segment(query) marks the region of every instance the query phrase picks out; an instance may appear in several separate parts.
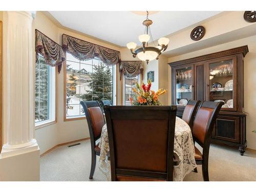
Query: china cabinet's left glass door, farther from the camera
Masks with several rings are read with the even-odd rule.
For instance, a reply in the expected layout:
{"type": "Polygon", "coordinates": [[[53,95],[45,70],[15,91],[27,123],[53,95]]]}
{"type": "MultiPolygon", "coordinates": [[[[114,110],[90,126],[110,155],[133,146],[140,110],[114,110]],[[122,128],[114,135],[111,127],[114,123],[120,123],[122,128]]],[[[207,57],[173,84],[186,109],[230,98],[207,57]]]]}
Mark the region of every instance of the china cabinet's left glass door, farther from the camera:
{"type": "Polygon", "coordinates": [[[193,70],[192,67],[176,69],[176,104],[186,105],[193,99],[193,70]]]}

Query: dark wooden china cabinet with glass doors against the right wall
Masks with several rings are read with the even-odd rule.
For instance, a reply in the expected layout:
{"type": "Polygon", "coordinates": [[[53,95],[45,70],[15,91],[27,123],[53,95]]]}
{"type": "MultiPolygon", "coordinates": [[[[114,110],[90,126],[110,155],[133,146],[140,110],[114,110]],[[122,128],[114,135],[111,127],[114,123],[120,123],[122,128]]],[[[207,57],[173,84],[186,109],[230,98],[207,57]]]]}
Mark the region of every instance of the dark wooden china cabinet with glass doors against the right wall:
{"type": "Polygon", "coordinates": [[[172,104],[182,116],[189,99],[221,101],[212,142],[246,148],[243,58],[247,46],[168,63],[172,68],[172,104]]]}

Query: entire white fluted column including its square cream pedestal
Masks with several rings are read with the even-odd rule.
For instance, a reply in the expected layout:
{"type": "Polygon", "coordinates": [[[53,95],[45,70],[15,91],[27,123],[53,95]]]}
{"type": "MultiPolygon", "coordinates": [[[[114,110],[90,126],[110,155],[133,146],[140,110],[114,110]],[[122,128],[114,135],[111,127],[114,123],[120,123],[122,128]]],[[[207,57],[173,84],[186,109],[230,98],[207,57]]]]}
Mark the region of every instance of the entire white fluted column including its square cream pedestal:
{"type": "Polygon", "coordinates": [[[4,131],[0,181],[39,181],[40,149],[33,119],[31,12],[4,12],[4,131]],[[7,36],[7,37],[6,37],[7,36]]]}

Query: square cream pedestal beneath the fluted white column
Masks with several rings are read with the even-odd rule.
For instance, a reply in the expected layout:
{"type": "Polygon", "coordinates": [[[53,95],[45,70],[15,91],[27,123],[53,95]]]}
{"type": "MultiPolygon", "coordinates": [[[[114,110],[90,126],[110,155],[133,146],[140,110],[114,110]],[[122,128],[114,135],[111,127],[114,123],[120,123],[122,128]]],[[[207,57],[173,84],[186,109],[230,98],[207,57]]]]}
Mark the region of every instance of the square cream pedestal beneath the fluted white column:
{"type": "Polygon", "coordinates": [[[39,181],[40,149],[37,143],[14,151],[3,149],[0,170],[0,181],[39,181]]]}

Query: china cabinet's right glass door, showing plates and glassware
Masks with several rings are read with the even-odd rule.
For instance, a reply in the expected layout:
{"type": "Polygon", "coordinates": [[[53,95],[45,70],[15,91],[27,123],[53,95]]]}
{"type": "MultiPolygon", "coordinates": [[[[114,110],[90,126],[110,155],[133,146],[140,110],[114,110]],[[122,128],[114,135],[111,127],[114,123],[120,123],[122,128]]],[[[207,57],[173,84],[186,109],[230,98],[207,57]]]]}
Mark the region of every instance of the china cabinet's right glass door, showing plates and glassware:
{"type": "Polygon", "coordinates": [[[227,59],[209,63],[209,100],[222,101],[222,108],[233,110],[236,108],[234,93],[236,91],[236,68],[234,59],[227,59]]]}

